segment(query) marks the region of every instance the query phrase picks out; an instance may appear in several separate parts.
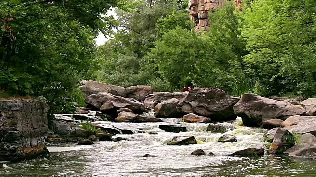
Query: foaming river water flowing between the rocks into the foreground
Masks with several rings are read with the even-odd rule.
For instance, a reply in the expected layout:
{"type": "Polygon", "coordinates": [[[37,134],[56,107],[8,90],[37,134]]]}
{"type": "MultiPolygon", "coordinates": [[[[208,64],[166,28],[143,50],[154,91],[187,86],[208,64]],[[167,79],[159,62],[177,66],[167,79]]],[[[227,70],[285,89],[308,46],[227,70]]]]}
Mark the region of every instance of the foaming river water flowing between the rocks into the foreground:
{"type": "Polygon", "coordinates": [[[5,168],[0,165],[0,177],[316,177],[316,160],[312,158],[227,156],[236,150],[263,147],[263,129],[235,122],[236,129],[227,133],[235,135],[237,142],[220,143],[217,139],[223,134],[205,131],[205,124],[182,123],[188,126],[188,132],[180,133],[159,129],[161,123],[128,124],[143,127],[144,133],[118,135],[127,138],[121,142],[48,147],[49,159],[7,163],[5,168]],[[173,136],[189,135],[195,136],[198,144],[166,144],[173,136]],[[215,156],[190,155],[197,148],[215,156]],[[155,157],[142,157],[146,153],[155,157]]]}

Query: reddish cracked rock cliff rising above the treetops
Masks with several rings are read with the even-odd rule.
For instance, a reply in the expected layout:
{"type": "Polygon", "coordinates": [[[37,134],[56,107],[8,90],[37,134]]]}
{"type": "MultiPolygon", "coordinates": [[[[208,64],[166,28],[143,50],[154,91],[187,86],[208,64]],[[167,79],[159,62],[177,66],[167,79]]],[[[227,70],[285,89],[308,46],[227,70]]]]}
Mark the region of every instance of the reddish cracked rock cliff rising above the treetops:
{"type": "MultiPolygon", "coordinates": [[[[188,11],[190,19],[194,22],[196,31],[208,30],[210,23],[208,12],[215,10],[225,0],[189,0],[188,11]]],[[[230,0],[229,0],[230,1],[230,0]]],[[[236,7],[240,7],[241,0],[234,0],[236,7]]]]}

